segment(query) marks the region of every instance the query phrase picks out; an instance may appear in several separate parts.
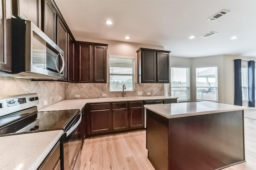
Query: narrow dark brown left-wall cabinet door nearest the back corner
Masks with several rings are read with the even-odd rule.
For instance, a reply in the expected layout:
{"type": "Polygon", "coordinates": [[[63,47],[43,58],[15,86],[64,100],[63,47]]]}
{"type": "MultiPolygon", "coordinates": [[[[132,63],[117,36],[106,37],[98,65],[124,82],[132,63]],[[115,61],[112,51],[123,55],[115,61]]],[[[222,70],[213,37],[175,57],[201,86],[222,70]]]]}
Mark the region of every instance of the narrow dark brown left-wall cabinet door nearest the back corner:
{"type": "Polygon", "coordinates": [[[68,82],[74,82],[74,41],[68,34],[68,82]]]}

